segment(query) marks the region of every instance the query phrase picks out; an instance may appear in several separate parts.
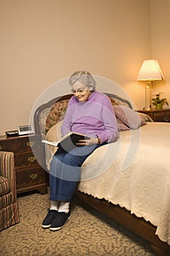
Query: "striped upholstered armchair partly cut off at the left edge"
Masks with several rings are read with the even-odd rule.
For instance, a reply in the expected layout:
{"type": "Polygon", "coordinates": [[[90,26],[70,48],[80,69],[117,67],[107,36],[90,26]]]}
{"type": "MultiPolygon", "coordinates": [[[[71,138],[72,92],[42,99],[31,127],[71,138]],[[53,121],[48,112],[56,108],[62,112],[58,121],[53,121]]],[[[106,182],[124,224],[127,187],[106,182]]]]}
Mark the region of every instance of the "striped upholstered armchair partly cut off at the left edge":
{"type": "Polygon", "coordinates": [[[14,154],[0,151],[0,231],[18,222],[14,154]]]}

